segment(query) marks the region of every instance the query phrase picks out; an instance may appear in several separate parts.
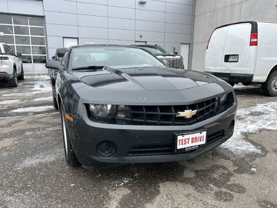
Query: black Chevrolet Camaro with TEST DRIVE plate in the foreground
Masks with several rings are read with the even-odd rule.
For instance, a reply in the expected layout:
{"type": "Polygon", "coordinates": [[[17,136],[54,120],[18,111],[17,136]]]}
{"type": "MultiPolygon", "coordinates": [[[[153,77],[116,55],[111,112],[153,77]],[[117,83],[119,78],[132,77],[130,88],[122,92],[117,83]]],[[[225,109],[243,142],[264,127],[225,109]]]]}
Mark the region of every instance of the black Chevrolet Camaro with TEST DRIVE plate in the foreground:
{"type": "Polygon", "coordinates": [[[188,160],[233,135],[229,84],[169,69],[136,46],[72,46],[46,67],[71,166],[188,160]]]}

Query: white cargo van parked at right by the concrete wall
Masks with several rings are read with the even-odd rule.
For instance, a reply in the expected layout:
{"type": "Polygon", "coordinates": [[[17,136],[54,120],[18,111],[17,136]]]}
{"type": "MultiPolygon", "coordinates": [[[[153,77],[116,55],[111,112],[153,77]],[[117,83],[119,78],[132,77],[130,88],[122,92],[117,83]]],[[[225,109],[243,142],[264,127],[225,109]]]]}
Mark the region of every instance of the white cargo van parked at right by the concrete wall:
{"type": "Polygon", "coordinates": [[[277,96],[277,24],[244,21],[215,28],[204,65],[232,86],[260,83],[265,94],[277,96]]]}

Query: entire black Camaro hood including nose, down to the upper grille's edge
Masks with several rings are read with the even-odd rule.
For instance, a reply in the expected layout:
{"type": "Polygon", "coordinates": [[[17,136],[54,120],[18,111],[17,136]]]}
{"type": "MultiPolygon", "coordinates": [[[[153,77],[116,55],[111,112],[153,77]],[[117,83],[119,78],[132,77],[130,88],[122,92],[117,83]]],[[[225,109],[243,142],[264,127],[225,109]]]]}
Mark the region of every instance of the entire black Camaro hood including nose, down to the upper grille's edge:
{"type": "MultiPolygon", "coordinates": [[[[143,67],[70,71],[67,80],[82,103],[184,105],[231,92],[233,87],[207,73],[143,67]]],[[[66,96],[66,93],[62,96],[66,96]]]]}

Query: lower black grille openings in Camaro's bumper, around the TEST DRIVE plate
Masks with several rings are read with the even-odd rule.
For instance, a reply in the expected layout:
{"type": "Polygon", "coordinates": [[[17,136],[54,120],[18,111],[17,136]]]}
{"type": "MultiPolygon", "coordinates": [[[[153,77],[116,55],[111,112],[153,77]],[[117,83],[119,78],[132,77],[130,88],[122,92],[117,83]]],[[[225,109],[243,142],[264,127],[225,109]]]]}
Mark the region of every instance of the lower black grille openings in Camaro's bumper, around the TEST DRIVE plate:
{"type": "MultiPolygon", "coordinates": [[[[224,131],[220,130],[215,132],[213,135],[207,136],[206,144],[212,144],[213,142],[222,139],[224,137],[224,131]]],[[[195,150],[188,151],[186,153],[191,153],[195,150]]],[[[172,155],[175,154],[175,145],[174,142],[170,144],[148,144],[148,145],[139,145],[133,146],[126,157],[132,156],[150,156],[150,155],[172,155]]]]}

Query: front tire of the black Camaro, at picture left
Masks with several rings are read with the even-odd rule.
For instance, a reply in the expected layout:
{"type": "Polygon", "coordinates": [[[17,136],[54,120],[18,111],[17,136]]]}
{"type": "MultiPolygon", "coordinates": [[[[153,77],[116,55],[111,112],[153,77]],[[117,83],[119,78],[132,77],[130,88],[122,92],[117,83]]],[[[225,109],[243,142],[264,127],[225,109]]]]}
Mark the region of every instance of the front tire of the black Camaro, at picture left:
{"type": "Polygon", "coordinates": [[[69,130],[66,125],[66,118],[64,114],[64,108],[61,107],[61,117],[62,117],[62,139],[64,140],[64,156],[67,164],[69,166],[79,166],[80,162],[78,161],[74,150],[71,145],[71,141],[69,139],[69,130]]]}

